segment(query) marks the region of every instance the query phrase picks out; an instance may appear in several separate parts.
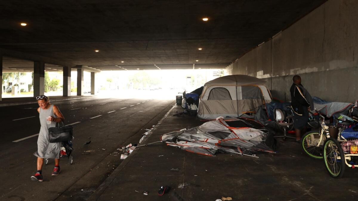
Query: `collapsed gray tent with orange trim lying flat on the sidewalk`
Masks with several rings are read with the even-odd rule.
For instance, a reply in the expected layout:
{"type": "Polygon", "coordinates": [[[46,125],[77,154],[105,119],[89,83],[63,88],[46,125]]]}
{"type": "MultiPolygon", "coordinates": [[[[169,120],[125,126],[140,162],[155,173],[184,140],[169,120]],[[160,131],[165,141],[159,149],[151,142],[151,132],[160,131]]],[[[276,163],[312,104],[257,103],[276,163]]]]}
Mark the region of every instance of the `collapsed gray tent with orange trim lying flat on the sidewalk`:
{"type": "Polygon", "coordinates": [[[185,151],[214,156],[226,153],[274,152],[273,134],[253,120],[218,118],[201,126],[163,134],[160,140],[185,151]]]}

